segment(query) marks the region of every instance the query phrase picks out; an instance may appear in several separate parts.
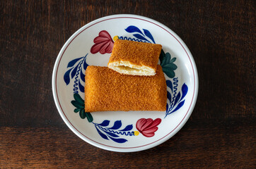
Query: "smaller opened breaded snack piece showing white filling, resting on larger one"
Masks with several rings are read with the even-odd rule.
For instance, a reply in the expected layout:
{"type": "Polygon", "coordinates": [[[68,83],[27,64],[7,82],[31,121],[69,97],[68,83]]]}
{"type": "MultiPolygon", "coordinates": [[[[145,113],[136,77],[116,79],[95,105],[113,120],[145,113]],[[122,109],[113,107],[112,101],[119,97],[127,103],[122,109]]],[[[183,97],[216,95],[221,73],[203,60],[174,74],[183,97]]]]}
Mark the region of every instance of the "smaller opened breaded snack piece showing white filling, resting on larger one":
{"type": "Polygon", "coordinates": [[[127,75],[156,75],[161,44],[117,39],[108,68],[127,75]]]}

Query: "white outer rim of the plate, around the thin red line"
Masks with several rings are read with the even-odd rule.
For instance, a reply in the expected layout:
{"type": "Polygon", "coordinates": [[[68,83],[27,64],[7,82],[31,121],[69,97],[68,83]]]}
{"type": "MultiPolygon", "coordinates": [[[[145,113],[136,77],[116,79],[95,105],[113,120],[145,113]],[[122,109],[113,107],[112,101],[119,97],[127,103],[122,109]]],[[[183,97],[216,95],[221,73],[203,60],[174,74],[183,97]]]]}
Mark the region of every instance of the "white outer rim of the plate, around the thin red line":
{"type": "Polygon", "coordinates": [[[156,20],[141,16],[141,15],[132,15],[132,14],[108,15],[108,16],[105,16],[103,18],[98,18],[96,20],[93,20],[90,23],[87,23],[86,25],[83,25],[83,27],[76,30],[76,32],[74,32],[74,34],[71,35],[71,37],[69,37],[69,39],[62,46],[62,49],[59,51],[57,59],[54,63],[54,69],[53,69],[53,72],[52,72],[52,93],[53,93],[53,97],[54,97],[54,102],[55,102],[55,105],[57,106],[57,110],[58,110],[59,114],[62,117],[62,120],[64,120],[64,123],[66,123],[66,125],[69,127],[69,129],[72,132],[74,132],[78,137],[83,139],[83,141],[86,141],[86,142],[88,142],[89,144],[91,144],[93,146],[96,146],[100,149],[105,149],[105,150],[108,150],[108,151],[117,151],[117,152],[143,151],[143,150],[146,150],[146,149],[151,149],[154,146],[158,146],[159,144],[162,144],[163,142],[165,142],[168,139],[170,139],[171,137],[173,137],[178,131],[180,131],[180,129],[185,125],[185,123],[187,123],[187,120],[190,118],[190,115],[192,114],[194,106],[197,102],[198,89],[199,89],[199,82],[198,82],[197,66],[196,66],[196,64],[194,62],[194,58],[193,58],[190,50],[187,48],[187,45],[185,44],[185,42],[183,42],[182,39],[175,32],[173,32],[173,30],[170,30],[170,28],[166,27],[162,23],[159,23],[156,20]],[[100,142],[96,142],[95,140],[86,137],[78,129],[76,129],[76,127],[74,127],[74,125],[66,117],[64,111],[62,110],[62,106],[59,103],[59,99],[58,99],[58,95],[57,95],[57,70],[59,68],[60,60],[61,60],[64,52],[68,48],[69,44],[71,44],[71,42],[78,35],[80,35],[81,32],[86,30],[88,27],[91,27],[91,26],[93,26],[97,23],[103,22],[105,20],[117,19],[117,18],[133,18],[133,19],[144,20],[144,21],[147,21],[149,23],[153,23],[154,25],[157,25],[158,27],[161,27],[163,30],[168,32],[170,35],[172,35],[180,43],[182,48],[185,50],[185,52],[186,52],[186,54],[187,54],[187,56],[190,60],[190,63],[192,65],[192,70],[193,70],[193,75],[194,75],[194,78],[193,78],[194,79],[194,92],[193,92],[193,95],[192,95],[192,101],[190,103],[189,108],[187,109],[187,113],[182,118],[180,123],[172,131],[168,132],[168,134],[166,134],[164,137],[161,137],[160,139],[157,139],[154,142],[151,142],[149,144],[145,144],[145,145],[142,145],[142,146],[134,146],[134,147],[109,146],[109,145],[101,144],[100,142]]]}

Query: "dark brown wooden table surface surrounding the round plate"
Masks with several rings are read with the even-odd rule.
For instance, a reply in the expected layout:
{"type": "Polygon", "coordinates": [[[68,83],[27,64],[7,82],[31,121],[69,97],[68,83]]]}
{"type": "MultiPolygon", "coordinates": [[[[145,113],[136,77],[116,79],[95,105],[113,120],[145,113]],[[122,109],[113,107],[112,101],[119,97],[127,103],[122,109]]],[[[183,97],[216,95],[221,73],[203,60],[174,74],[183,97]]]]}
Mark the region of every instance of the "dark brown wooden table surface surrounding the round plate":
{"type": "Polygon", "coordinates": [[[0,168],[256,168],[255,1],[1,1],[0,8],[0,168]],[[118,13],[170,27],[199,73],[197,104],[182,130],[134,153],[78,138],[52,96],[66,40],[118,13]]]}

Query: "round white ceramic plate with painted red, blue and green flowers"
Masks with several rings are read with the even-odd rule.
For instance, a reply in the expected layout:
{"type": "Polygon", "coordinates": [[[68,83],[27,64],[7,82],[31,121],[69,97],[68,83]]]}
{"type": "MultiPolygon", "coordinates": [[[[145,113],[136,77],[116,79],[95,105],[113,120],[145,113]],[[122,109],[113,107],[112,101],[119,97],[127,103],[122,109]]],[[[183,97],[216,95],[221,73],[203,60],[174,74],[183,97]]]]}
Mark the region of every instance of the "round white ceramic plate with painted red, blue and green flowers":
{"type": "Polygon", "coordinates": [[[139,15],[110,15],[81,27],[64,44],[52,90],[59,114],[78,137],[101,149],[132,152],[165,142],[185,125],[197,100],[198,76],[190,50],[168,27],[139,15]],[[117,37],[162,44],[166,111],[84,112],[86,67],[107,66],[117,37]]]}

